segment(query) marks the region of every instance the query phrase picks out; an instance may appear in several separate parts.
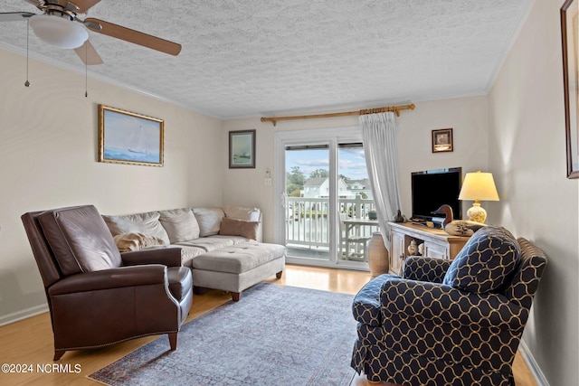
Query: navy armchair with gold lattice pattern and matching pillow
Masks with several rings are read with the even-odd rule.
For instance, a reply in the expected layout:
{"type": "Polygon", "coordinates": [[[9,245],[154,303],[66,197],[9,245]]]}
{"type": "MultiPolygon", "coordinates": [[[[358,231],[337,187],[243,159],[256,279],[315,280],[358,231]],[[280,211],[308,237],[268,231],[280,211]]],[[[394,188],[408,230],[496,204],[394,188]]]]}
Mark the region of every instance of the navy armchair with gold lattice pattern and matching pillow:
{"type": "Polygon", "coordinates": [[[354,299],[351,366],[403,385],[514,385],[512,362],[546,255],[500,227],[453,259],[410,257],[354,299]]]}

